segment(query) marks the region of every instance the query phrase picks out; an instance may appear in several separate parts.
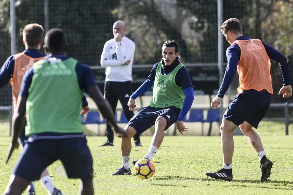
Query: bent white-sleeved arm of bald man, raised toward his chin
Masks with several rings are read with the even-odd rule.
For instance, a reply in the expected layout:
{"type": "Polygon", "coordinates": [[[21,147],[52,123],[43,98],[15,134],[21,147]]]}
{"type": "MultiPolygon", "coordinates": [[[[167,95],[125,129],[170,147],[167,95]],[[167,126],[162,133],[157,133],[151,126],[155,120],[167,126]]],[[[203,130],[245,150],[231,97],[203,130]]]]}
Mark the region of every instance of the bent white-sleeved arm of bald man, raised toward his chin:
{"type": "Polygon", "coordinates": [[[117,60],[119,61],[120,65],[128,65],[125,64],[127,61],[130,62],[130,57],[134,55],[135,51],[135,44],[129,43],[128,45],[125,45],[124,51],[122,49],[121,42],[116,42],[116,54],[117,54],[117,60]]]}

